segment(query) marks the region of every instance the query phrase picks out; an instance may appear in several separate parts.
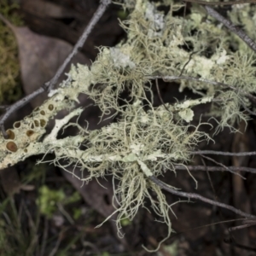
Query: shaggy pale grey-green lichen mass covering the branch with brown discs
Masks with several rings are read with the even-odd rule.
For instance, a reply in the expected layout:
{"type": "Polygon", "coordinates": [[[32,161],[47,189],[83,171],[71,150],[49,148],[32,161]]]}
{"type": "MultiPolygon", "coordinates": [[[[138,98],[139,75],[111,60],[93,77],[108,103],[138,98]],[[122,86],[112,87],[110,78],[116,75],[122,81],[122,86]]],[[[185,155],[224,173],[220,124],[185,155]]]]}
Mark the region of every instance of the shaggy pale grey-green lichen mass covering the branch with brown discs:
{"type": "Polygon", "coordinates": [[[128,2],[131,15],[121,23],[127,40],[113,48],[102,47],[91,67],[73,66],[68,79],[49,93],[48,101],[16,122],[9,130],[9,139],[0,138],[0,166],[13,165],[32,154],[54,153],[56,166],[88,171],[86,177],[79,177],[84,182],[112,174],[113,183],[117,183],[113,189],[118,228],[122,218],[134,218],[149,198],[154,212],[168,225],[169,236],[172,205],[147,177],[160,176],[166,170],[175,172],[174,165],[185,165],[198,143],[210,139],[200,130],[203,124],[189,124],[195,106],[212,103],[207,115],[218,121],[216,131],[224,126],[235,129],[236,121],[248,119],[242,109],[251,107],[246,95],[256,89],[255,55],[247,47],[234,50],[230,32],[217,26],[200,7],[193,7],[182,18],[172,13],[180,9],[180,3],[166,1],[170,10],[164,14],[157,9],[160,3],[123,3],[128,2]],[[177,79],[180,92],[189,88],[198,98],[154,108],[152,78],[178,78],[182,71],[183,76],[195,79],[177,79]],[[120,106],[124,91],[129,96],[120,106]],[[80,93],[94,100],[102,117],[117,115],[117,122],[96,131],[75,123],[78,135],[57,139],[70,119],[82,113],[81,108],[73,110],[80,93]],[[52,131],[42,137],[49,119],[64,108],[71,112],[55,120],[52,131]],[[67,166],[61,165],[63,159],[67,166]],[[152,199],[152,192],[158,201],[152,199]]]}

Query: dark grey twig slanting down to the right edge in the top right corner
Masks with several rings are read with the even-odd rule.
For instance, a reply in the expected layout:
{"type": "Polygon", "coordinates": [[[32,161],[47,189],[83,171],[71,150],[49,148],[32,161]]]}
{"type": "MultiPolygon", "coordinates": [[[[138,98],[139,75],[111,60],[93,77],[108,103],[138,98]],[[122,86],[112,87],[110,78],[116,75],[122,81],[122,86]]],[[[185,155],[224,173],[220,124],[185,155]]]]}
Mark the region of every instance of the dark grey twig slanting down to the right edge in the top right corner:
{"type": "MultiPolygon", "coordinates": [[[[253,1],[253,3],[256,3],[253,1]]],[[[243,32],[240,28],[235,26],[230,20],[227,20],[224,18],[224,16],[220,15],[216,10],[212,9],[210,6],[205,6],[205,9],[207,9],[207,14],[211,15],[213,18],[218,20],[219,22],[223,23],[224,26],[226,26],[228,29],[230,29],[231,32],[236,33],[236,35],[241,38],[253,51],[256,52],[256,44],[253,41],[252,38],[249,38],[245,32],[243,32]]]]}

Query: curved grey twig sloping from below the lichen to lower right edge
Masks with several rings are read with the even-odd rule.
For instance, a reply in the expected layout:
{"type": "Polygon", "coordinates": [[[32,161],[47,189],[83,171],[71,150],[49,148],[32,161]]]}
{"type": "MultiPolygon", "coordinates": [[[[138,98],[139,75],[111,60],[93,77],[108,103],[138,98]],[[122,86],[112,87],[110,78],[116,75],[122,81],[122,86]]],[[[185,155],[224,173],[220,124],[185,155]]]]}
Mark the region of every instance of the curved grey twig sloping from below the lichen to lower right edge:
{"type": "Polygon", "coordinates": [[[213,206],[217,206],[217,207],[222,207],[222,208],[225,208],[225,209],[228,209],[232,212],[235,212],[236,214],[239,214],[245,218],[253,218],[255,219],[256,216],[253,215],[253,214],[249,214],[247,212],[242,212],[241,210],[239,209],[236,209],[235,207],[231,207],[229,205],[226,205],[224,203],[221,203],[221,202],[218,202],[218,201],[213,201],[211,199],[208,199],[207,197],[204,197],[204,196],[201,196],[201,195],[198,195],[198,194],[195,194],[195,193],[187,193],[187,192],[183,192],[183,191],[177,191],[175,189],[172,189],[170,188],[168,185],[166,185],[166,183],[163,183],[160,181],[160,179],[158,179],[157,177],[155,177],[154,175],[153,176],[148,176],[148,178],[155,184],[157,184],[158,186],[160,186],[161,189],[165,189],[166,191],[170,192],[171,194],[173,195],[178,195],[178,196],[182,196],[182,197],[187,197],[190,199],[196,199],[196,200],[200,200],[200,201],[204,201],[210,205],[213,205],[213,206]]]}

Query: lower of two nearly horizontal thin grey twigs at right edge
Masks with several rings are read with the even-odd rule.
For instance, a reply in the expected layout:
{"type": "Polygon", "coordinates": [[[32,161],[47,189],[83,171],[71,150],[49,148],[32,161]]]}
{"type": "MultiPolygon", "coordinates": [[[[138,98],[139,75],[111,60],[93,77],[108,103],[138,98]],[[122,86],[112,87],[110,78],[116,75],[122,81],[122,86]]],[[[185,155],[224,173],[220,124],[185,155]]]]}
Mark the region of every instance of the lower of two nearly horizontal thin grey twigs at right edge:
{"type": "MultiPolygon", "coordinates": [[[[182,166],[182,165],[176,165],[174,166],[175,170],[180,170],[180,171],[207,171],[208,172],[226,172],[227,169],[224,167],[219,167],[219,166],[182,166]]],[[[230,170],[233,170],[234,172],[252,172],[256,173],[255,168],[249,168],[249,167],[234,167],[234,166],[228,166],[230,170]]]]}

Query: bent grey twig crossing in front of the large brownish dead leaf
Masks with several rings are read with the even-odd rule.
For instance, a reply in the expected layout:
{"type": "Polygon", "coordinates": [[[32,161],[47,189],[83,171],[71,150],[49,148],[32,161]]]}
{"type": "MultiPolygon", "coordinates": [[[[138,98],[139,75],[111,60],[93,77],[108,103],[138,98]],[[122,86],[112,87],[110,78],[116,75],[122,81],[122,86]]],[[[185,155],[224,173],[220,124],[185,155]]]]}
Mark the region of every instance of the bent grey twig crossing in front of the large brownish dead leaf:
{"type": "Polygon", "coordinates": [[[91,18],[88,26],[85,27],[84,32],[82,36],[79,38],[79,41],[77,44],[74,45],[72,52],[67,55],[66,60],[62,63],[61,67],[58,68],[57,72],[55,73],[55,76],[50,79],[48,82],[46,82],[43,86],[41,86],[38,90],[35,90],[32,92],[32,94],[25,96],[22,98],[20,101],[15,102],[12,106],[6,109],[6,112],[3,113],[1,120],[0,120],[0,128],[1,131],[3,132],[3,137],[8,138],[8,135],[4,129],[4,122],[6,119],[9,118],[11,113],[15,112],[19,108],[23,107],[26,105],[27,102],[30,102],[35,96],[40,95],[44,91],[49,91],[52,90],[53,87],[55,86],[57,80],[60,78],[61,74],[63,73],[64,69],[67,67],[68,63],[72,60],[73,56],[76,55],[79,51],[79,48],[84,45],[85,40],[88,38],[90,35],[90,32],[96,26],[96,23],[100,18],[102,17],[103,13],[107,9],[108,5],[111,3],[111,0],[102,0],[100,3],[100,6],[98,9],[96,9],[95,14],[91,18]]]}

